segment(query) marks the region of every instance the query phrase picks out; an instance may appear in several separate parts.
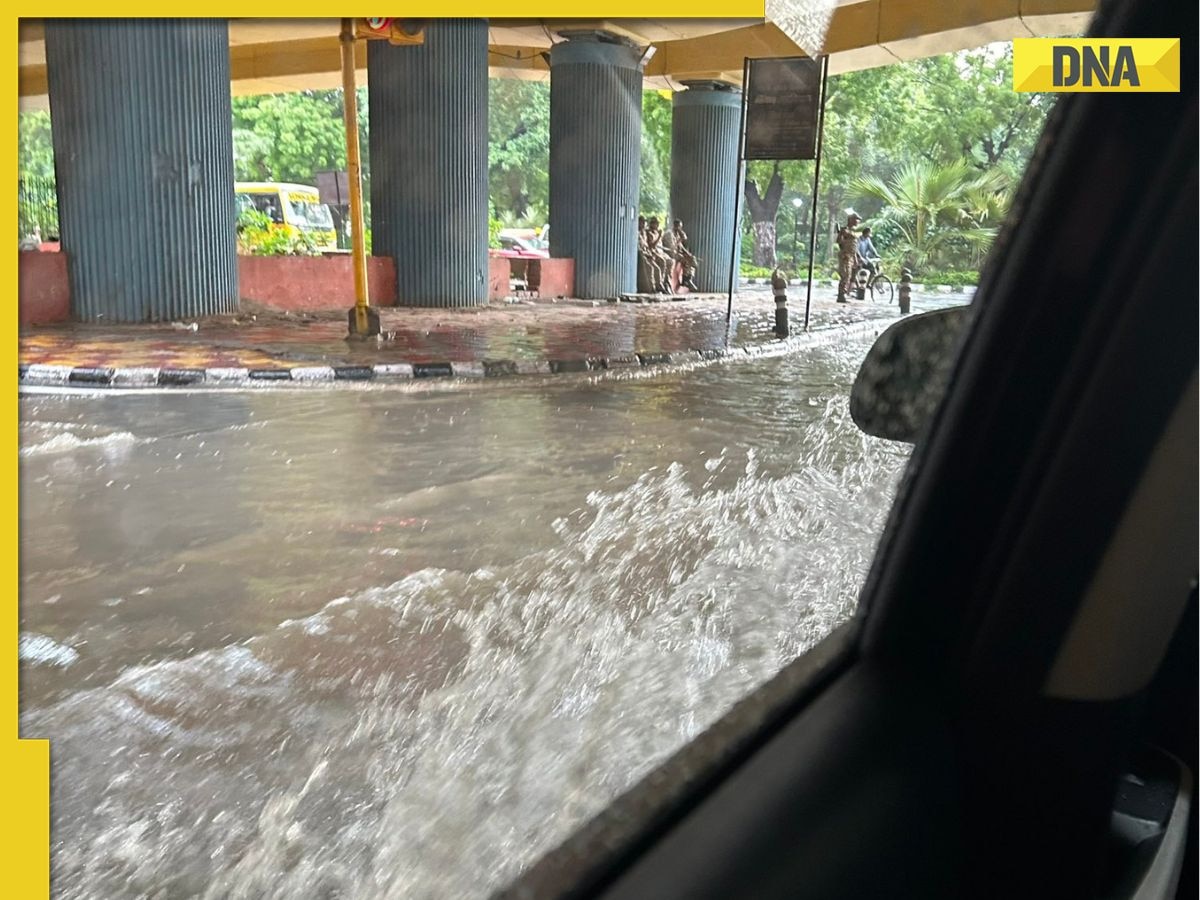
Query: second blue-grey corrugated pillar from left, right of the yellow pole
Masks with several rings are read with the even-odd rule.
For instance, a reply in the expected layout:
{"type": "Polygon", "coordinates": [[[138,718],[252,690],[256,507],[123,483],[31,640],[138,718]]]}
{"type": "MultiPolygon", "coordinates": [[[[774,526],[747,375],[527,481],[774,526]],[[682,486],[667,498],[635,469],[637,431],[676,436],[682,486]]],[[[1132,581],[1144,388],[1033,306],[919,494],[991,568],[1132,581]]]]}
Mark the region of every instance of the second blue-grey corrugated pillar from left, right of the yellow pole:
{"type": "Polygon", "coordinates": [[[367,47],[371,252],[397,302],[487,302],[487,22],[436,19],[425,43],[367,47]]]}

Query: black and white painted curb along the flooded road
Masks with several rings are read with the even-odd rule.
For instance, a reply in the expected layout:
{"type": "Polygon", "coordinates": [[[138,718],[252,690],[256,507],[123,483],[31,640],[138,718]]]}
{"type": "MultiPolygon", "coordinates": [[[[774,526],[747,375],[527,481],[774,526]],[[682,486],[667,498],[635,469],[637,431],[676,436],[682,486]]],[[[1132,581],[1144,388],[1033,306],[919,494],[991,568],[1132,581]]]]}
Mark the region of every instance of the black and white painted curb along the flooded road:
{"type": "Polygon", "coordinates": [[[503,378],[583,372],[611,372],[664,366],[694,366],[716,360],[781,356],[808,347],[845,338],[882,334],[894,317],[832,325],[800,332],[782,341],[732,348],[625,353],[614,356],[546,360],[482,360],[478,362],[389,362],[374,366],[293,366],[290,368],[148,368],[18,366],[20,385],[59,388],[256,388],[271,385],[328,385],[343,383],[398,383],[430,378],[503,378]]]}

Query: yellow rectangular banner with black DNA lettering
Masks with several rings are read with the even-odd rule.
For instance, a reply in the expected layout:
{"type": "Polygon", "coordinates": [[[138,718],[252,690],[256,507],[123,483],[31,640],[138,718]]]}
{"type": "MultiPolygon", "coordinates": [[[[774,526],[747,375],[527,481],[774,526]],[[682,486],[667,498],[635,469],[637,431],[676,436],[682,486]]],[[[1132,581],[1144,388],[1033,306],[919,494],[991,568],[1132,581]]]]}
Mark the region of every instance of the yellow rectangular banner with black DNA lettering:
{"type": "Polygon", "coordinates": [[[1176,92],[1180,38],[1019,37],[1013,41],[1013,90],[1176,92]]]}

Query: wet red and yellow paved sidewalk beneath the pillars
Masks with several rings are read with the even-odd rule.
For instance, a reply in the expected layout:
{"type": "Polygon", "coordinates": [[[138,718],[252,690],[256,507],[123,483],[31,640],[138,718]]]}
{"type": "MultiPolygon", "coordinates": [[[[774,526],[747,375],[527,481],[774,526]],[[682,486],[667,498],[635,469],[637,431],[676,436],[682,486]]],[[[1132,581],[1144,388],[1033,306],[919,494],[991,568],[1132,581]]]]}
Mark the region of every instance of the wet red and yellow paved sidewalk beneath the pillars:
{"type": "MultiPolygon", "coordinates": [[[[965,298],[913,295],[913,311],[965,298]]],[[[734,298],[662,304],[590,301],[492,305],[478,310],[380,308],[385,338],[347,341],[346,313],[283,313],[246,306],[241,314],[167,325],[47,325],[23,329],[19,361],[77,367],[270,368],[295,364],[475,362],[608,358],[750,346],[774,341],[769,288],[734,298]],[[192,330],[192,325],[196,326],[192,330]]],[[[804,322],[803,290],[790,290],[793,332],[804,322]]],[[[895,306],[838,304],[814,290],[811,329],[886,319],[895,306]]]]}

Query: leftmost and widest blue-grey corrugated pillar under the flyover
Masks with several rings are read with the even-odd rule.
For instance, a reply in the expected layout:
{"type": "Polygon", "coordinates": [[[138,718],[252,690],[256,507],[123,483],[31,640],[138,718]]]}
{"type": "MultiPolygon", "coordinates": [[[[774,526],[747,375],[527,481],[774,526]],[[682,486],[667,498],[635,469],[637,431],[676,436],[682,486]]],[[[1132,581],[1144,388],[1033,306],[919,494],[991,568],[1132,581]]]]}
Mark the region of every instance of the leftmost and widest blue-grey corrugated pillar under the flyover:
{"type": "Polygon", "coordinates": [[[47,19],[71,311],[161,322],[238,307],[224,19],[47,19]]]}

